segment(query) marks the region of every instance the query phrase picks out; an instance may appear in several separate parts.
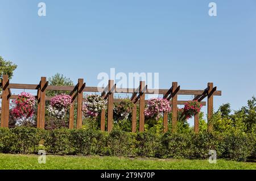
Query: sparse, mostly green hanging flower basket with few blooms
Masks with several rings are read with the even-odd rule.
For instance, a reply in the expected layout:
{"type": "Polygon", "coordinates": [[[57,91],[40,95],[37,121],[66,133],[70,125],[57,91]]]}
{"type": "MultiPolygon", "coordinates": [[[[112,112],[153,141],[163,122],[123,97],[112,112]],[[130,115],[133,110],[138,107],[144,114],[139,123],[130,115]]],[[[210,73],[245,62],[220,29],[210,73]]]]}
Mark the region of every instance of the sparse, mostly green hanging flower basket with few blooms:
{"type": "Polygon", "coordinates": [[[133,102],[130,99],[123,99],[120,103],[114,104],[114,119],[127,120],[131,111],[133,110],[133,102]]]}

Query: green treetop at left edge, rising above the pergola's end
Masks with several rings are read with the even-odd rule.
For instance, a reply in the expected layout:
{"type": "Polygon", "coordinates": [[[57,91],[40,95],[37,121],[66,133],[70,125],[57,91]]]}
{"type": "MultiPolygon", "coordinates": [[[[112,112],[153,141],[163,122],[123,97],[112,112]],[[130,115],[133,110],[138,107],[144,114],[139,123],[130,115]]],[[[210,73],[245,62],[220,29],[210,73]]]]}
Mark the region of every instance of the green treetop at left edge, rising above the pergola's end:
{"type": "Polygon", "coordinates": [[[0,56],[0,78],[3,78],[3,75],[8,75],[9,79],[13,77],[13,71],[17,68],[16,64],[13,64],[11,61],[4,60],[0,56]]]}

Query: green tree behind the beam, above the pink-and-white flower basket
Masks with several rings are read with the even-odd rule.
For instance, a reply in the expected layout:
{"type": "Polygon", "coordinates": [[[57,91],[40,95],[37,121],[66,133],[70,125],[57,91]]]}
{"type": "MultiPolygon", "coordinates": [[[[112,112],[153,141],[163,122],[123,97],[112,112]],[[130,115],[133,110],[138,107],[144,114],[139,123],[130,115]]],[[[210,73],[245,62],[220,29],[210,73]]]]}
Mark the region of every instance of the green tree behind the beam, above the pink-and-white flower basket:
{"type": "MultiPolygon", "coordinates": [[[[48,80],[52,86],[73,86],[74,83],[70,78],[64,77],[63,74],[56,73],[48,80]]],[[[47,96],[55,96],[58,94],[69,94],[69,91],[46,91],[47,96]]]]}

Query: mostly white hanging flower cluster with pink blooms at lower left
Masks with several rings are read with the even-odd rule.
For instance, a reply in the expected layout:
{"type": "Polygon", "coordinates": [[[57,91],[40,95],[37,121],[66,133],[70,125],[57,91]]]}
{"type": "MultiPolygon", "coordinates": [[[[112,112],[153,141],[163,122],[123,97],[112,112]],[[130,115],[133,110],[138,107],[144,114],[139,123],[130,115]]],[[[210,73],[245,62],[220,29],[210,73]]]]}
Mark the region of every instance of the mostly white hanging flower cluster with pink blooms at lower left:
{"type": "Polygon", "coordinates": [[[106,109],[106,100],[100,95],[86,95],[82,106],[85,117],[97,117],[101,110],[106,109]]]}

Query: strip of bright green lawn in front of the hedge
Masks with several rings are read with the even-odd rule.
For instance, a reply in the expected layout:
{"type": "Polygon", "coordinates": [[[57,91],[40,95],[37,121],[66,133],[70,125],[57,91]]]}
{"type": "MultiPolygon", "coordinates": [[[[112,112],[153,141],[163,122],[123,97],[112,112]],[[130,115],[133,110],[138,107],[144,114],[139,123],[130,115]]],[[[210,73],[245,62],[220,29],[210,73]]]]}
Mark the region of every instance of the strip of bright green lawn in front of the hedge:
{"type": "Polygon", "coordinates": [[[256,163],[47,155],[46,164],[39,164],[38,155],[0,154],[0,169],[256,169],[256,163]]]}

